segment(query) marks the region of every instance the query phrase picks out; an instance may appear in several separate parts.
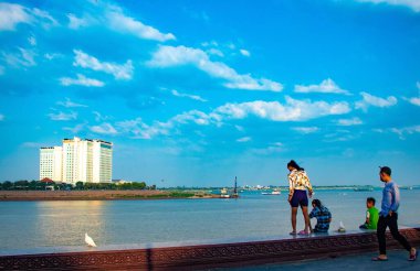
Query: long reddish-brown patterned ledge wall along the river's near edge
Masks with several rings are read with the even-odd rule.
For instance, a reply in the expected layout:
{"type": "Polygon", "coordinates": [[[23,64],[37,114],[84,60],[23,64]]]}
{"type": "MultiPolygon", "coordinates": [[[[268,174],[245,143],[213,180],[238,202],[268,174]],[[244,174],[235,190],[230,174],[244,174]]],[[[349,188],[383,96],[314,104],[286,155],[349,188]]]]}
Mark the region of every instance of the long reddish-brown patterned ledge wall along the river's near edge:
{"type": "MultiPolygon", "coordinates": [[[[401,229],[412,245],[420,228],[401,229]]],[[[387,234],[387,247],[400,248],[387,234]]],[[[287,262],[378,249],[376,234],[316,236],[271,241],[0,257],[0,270],[191,270],[287,262]]]]}

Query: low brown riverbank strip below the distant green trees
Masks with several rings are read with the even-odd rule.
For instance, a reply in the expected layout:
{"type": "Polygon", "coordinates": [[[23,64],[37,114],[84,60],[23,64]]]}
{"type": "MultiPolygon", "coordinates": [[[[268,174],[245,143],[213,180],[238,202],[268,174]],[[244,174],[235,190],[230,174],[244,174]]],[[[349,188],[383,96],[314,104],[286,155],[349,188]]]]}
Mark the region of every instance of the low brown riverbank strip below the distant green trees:
{"type": "Polygon", "coordinates": [[[0,191],[0,202],[214,198],[193,191],[0,191]]]}

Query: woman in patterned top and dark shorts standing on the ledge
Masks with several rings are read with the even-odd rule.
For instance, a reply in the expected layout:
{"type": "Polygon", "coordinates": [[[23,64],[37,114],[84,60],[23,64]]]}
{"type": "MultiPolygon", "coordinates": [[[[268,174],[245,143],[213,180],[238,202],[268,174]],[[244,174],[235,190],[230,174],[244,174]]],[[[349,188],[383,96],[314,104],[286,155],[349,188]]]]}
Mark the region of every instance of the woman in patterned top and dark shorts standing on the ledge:
{"type": "Polygon", "coordinates": [[[296,214],[297,207],[301,206],[303,217],[305,219],[305,229],[301,230],[298,235],[307,236],[309,235],[311,220],[307,214],[307,195],[306,189],[309,192],[309,197],[312,197],[312,185],[308,176],[304,169],[298,166],[298,164],[291,160],[287,163],[288,173],[288,203],[292,207],[292,232],[291,235],[296,235],[296,214]]]}

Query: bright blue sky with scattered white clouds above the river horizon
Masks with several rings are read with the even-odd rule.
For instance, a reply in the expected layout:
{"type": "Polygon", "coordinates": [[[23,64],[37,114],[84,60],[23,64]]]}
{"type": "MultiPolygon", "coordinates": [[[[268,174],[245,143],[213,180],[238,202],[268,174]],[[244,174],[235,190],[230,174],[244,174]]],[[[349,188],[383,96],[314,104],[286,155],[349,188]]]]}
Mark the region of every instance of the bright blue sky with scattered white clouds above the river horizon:
{"type": "Polygon", "coordinates": [[[114,145],[158,186],[420,184],[416,0],[0,2],[0,180],[114,145]],[[164,181],[162,181],[164,180],[164,181]]]}

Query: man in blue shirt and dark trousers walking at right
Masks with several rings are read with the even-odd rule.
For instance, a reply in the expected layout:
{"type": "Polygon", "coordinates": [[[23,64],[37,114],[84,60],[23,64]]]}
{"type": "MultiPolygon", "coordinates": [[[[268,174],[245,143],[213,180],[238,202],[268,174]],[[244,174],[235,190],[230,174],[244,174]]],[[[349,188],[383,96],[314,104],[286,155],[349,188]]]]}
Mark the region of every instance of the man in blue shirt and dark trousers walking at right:
{"type": "Polygon", "coordinates": [[[377,228],[377,236],[379,242],[379,256],[372,258],[372,261],[387,261],[387,248],[386,248],[386,239],[385,231],[387,227],[391,231],[393,239],[398,240],[401,246],[410,252],[409,261],[414,261],[418,251],[414,247],[411,247],[407,239],[400,235],[398,231],[398,207],[400,204],[400,192],[395,182],[391,178],[391,169],[388,166],[381,166],[379,171],[380,181],[385,183],[385,187],[382,191],[382,205],[381,210],[379,213],[379,221],[377,228]]]}

